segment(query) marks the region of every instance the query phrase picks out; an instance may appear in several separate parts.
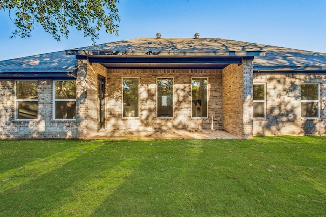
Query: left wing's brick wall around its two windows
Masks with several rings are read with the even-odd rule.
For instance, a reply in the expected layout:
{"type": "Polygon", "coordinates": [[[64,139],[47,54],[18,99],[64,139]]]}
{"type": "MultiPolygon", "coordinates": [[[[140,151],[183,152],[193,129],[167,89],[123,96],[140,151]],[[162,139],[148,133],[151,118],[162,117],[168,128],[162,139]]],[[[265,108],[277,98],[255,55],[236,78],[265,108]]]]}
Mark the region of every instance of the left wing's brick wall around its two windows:
{"type": "Polygon", "coordinates": [[[0,138],[78,138],[77,121],[53,120],[52,80],[39,79],[37,120],[15,120],[14,80],[0,80],[0,138]]]}

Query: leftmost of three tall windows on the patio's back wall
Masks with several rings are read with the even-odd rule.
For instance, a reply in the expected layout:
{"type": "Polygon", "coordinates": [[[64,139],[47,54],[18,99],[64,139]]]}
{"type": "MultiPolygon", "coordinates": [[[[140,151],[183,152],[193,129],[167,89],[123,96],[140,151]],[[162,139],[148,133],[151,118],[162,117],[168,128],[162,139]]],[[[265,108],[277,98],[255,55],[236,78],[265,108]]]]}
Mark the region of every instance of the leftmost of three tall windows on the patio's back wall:
{"type": "Polygon", "coordinates": [[[123,117],[139,117],[139,78],[122,78],[123,117]]]}

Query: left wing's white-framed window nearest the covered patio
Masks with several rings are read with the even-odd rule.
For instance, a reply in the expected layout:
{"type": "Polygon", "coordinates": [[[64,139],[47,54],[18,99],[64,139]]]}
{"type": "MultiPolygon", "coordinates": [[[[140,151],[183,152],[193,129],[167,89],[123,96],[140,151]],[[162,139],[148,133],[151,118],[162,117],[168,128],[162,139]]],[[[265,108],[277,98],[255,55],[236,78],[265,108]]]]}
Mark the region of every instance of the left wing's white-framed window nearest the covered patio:
{"type": "Polygon", "coordinates": [[[76,119],[76,81],[55,81],[54,119],[76,119]]]}

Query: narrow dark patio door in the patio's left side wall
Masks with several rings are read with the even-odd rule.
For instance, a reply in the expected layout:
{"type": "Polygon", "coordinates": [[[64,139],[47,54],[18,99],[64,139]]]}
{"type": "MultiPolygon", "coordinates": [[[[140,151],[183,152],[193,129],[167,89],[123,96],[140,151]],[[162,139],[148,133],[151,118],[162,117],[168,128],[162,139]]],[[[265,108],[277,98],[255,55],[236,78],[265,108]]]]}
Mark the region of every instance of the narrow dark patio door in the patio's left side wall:
{"type": "Polygon", "coordinates": [[[105,78],[98,75],[97,79],[97,129],[104,128],[105,122],[105,78]]]}

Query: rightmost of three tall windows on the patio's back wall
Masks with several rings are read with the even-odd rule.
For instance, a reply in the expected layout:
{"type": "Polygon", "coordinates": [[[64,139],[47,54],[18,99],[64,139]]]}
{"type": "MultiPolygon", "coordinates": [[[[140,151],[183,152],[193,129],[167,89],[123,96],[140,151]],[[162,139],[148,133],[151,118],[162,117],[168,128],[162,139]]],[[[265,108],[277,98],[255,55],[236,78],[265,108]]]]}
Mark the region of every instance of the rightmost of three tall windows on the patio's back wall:
{"type": "Polygon", "coordinates": [[[207,78],[192,78],[192,118],[207,118],[207,78]]]}

